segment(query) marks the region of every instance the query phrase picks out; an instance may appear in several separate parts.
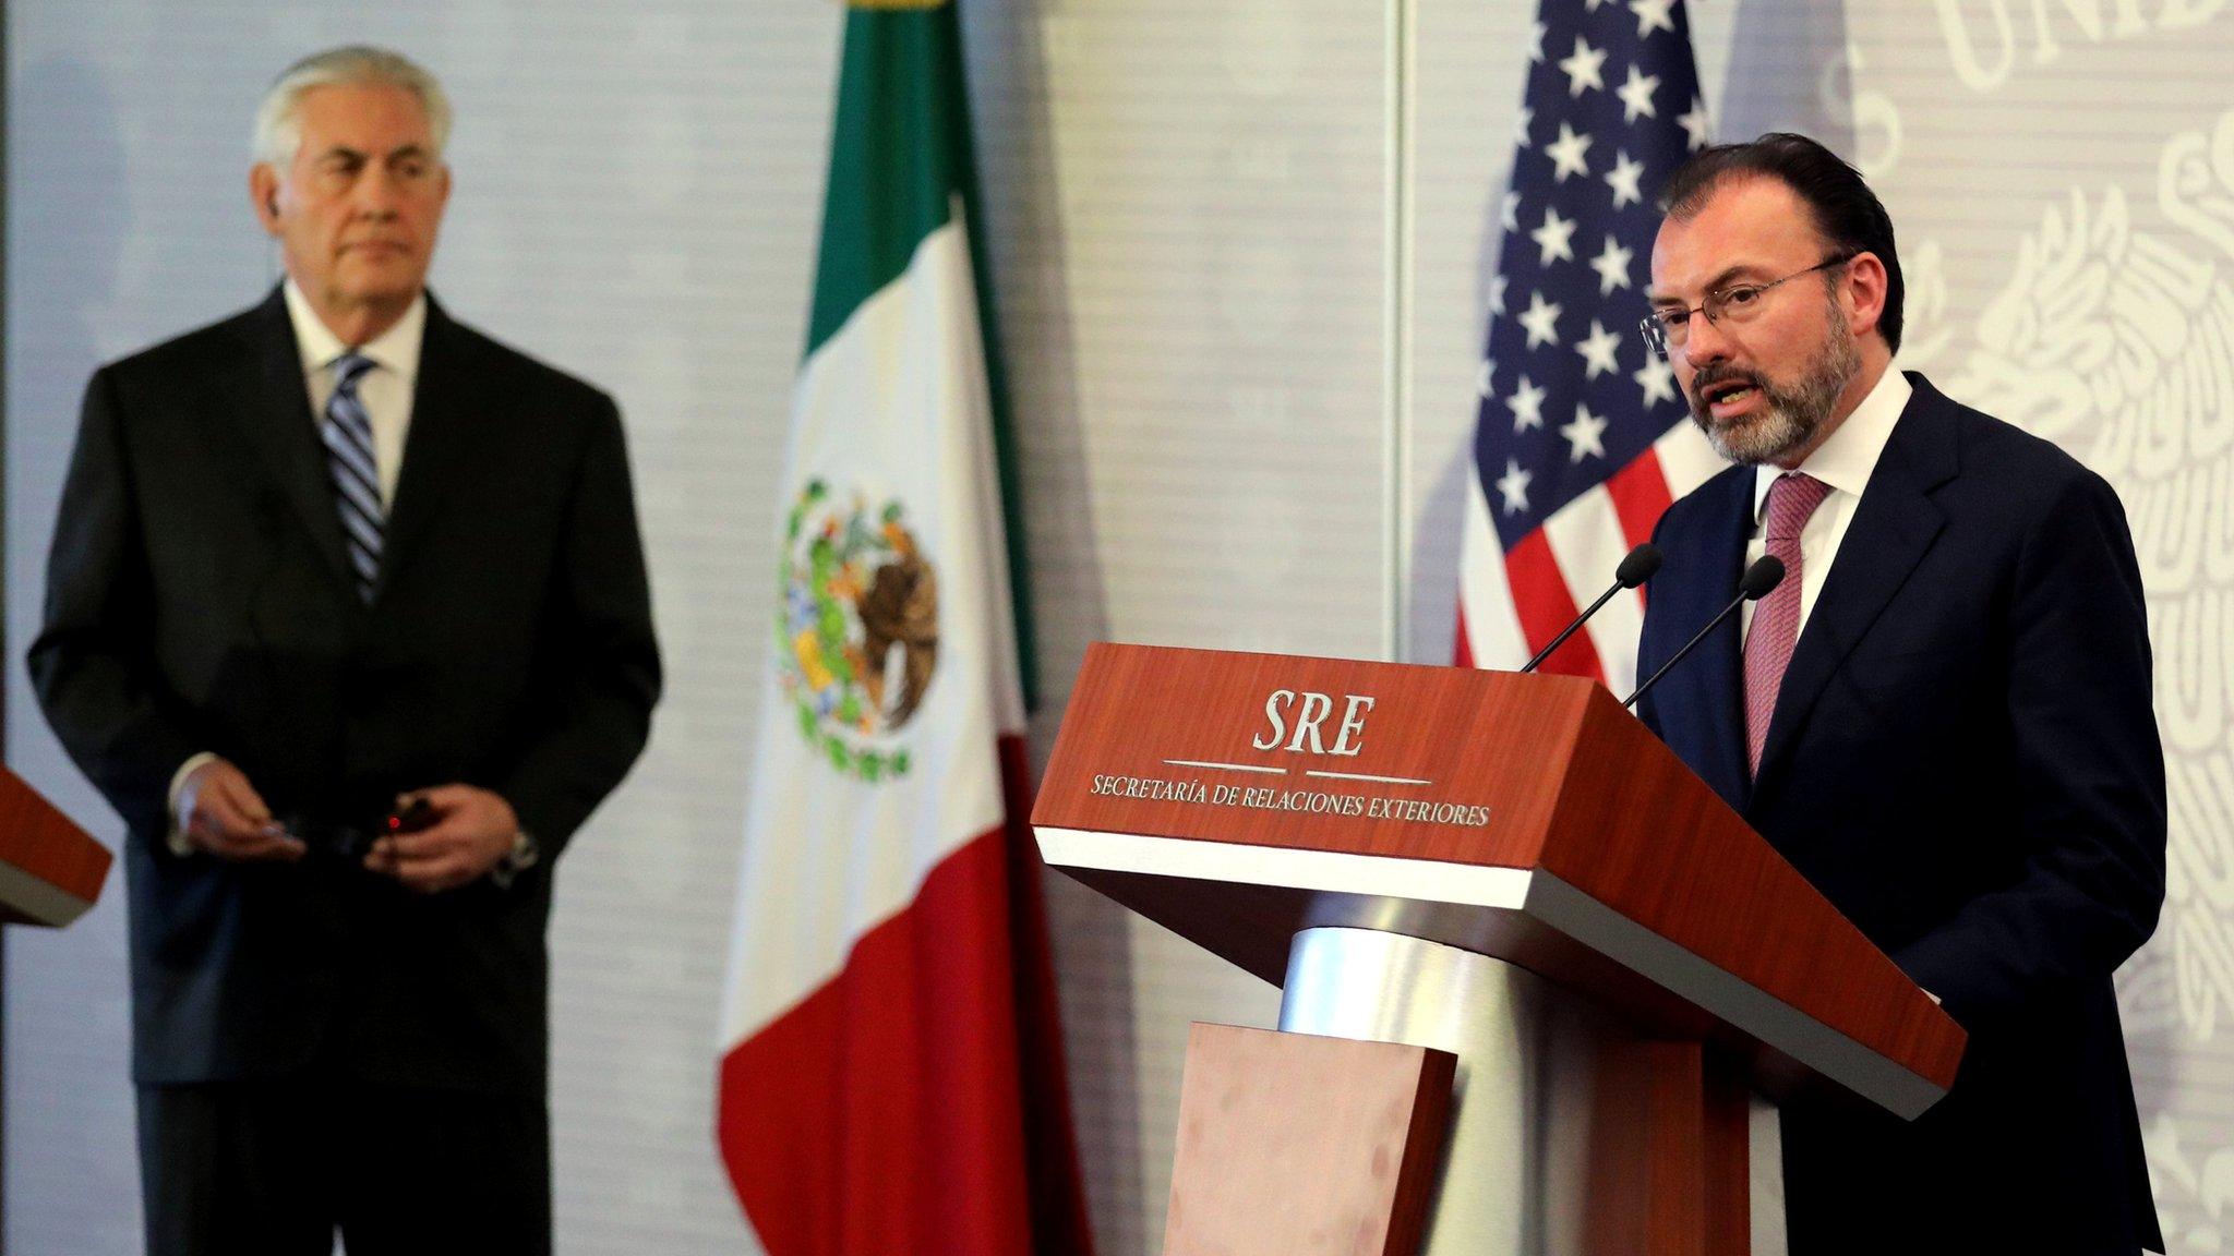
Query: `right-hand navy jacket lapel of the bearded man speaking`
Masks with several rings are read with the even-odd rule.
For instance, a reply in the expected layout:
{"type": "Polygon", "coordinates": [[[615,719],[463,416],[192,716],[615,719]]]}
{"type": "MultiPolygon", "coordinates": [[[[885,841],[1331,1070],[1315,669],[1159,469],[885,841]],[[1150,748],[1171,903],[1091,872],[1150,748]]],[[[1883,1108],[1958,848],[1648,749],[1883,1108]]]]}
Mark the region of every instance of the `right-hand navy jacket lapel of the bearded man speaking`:
{"type": "Polygon", "coordinates": [[[1785,684],[1776,691],[1760,778],[1769,778],[1792,753],[1792,742],[1832,673],[1908,583],[1946,525],[1946,514],[1928,494],[1955,476],[1955,427],[1939,413],[1950,402],[1921,375],[1910,380],[1915,396],[1870,474],[1830,579],[1801,628],[1785,684]]]}

